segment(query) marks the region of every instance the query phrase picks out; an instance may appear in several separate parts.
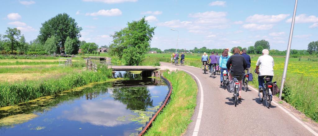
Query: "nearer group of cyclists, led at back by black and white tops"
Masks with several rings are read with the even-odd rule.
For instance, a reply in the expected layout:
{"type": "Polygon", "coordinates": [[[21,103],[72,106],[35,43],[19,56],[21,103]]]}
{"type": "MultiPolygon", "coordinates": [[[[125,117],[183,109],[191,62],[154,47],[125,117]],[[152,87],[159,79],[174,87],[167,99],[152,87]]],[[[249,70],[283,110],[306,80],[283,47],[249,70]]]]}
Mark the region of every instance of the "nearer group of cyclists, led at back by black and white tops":
{"type": "MultiPolygon", "coordinates": [[[[201,57],[201,61],[204,63],[210,62],[210,72],[213,66],[219,66],[219,70],[221,73],[226,71],[227,75],[229,76],[229,80],[233,80],[233,77],[236,77],[239,80],[239,100],[242,99],[241,90],[242,90],[242,79],[246,74],[250,73],[251,68],[251,57],[246,54],[246,50],[240,51],[239,48],[233,49],[233,54],[229,51],[229,49],[225,49],[222,55],[218,56],[218,53],[214,55],[214,52],[211,52],[210,57],[204,52],[201,57]],[[233,55],[234,54],[234,55],[233,55]]],[[[272,82],[274,76],[274,60],[273,57],[269,56],[269,51],[264,49],[262,51],[262,56],[260,56],[256,62],[256,69],[255,73],[259,74],[258,76],[258,83],[259,83],[259,91],[263,92],[264,90],[264,77],[270,77],[269,81],[272,82]]],[[[225,73],[225,72],[224,72],[225,73]]],[[[223,81],[223,76],[220,76],[221,85],[223,81]]]]}

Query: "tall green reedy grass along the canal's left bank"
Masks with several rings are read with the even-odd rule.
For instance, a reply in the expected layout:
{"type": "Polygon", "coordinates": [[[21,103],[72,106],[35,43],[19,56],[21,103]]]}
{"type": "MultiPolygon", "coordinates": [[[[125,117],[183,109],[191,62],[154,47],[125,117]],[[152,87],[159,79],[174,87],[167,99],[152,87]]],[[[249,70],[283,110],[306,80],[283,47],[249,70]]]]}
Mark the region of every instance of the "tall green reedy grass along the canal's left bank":
{"type": "Polygon", "coordinates": [[[97,72],[71,72],[59,78],[0,83],[0,106],[16,105],[43,96],[57,94],[93,82],[106,81],[112,71],[100,66],[97,72]]]}

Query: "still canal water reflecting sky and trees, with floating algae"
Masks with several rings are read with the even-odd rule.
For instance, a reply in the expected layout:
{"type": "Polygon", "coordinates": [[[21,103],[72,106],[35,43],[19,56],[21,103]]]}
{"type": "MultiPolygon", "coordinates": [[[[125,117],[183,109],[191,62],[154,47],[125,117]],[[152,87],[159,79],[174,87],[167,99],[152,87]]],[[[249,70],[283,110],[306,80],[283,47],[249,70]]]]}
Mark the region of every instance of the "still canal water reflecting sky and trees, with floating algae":
{"type": "Polygon", "coordinates": [[[124,78],[0,108],[0,135],[136,135],[168,87],[160,79],[124,78]]]}

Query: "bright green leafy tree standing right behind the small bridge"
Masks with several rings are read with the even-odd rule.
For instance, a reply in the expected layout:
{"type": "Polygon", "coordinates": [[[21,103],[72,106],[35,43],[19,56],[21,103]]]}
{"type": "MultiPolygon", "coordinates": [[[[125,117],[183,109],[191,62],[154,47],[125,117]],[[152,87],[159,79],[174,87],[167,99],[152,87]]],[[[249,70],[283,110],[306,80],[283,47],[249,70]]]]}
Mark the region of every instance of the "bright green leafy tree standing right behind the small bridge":
{"type": "Polygon", "coordinates": [[[145,17],[138,21],[128,22],[128,27],[115,32],[113,44],[110,45],[111,55],[123,58],[126,65],[140,65],[149,51],[150,41],[156,27],[150,27],[145,17]]]}

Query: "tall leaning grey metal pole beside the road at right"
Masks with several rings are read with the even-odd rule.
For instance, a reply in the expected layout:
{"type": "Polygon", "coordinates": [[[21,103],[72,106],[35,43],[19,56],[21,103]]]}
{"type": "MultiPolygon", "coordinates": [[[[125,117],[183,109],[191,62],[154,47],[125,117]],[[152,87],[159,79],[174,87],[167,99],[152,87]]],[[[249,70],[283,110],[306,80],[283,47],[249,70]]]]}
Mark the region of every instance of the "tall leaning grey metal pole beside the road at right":
{"type": "Polygon", "coordinates": [[[285,65],[284,65],[284,72],[283,72],[283,76],[282,76],[282,78],[281,78],[281,84],[280,84],[280,92],[279,92],[279,98],[280,98],[280,99],[281,99],[281,94],[282,94],[282,92],[283,92],[284,82],[285,82],[285,80],[286,80],[288,60],[289,60],[289,54],[290,54],[290,47],[291,47],[291,44],[292,44],[293,32],[294,32],[294,24],[295,24],[295,16],[296,16],[297,3],[298,3],[298,0],[295,0],[295,6],[294,6],[294,13],[293,13],[292,25],[291,25],[291,27],[290,27],[290,32],[289,32],[289,39],[288,39],[286,59],[285,59],[285,65]]]}

